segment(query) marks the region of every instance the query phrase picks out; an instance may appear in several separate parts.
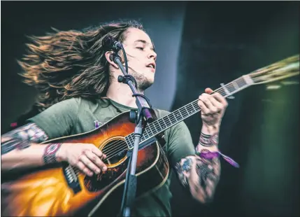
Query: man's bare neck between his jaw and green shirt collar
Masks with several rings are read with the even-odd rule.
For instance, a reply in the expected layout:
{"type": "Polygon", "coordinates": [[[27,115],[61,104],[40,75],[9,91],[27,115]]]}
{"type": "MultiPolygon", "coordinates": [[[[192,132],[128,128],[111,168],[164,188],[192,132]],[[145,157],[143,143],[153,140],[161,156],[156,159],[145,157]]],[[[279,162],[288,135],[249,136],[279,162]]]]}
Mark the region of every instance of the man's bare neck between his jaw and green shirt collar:
{"type": "MultiPolygon", "coordinates": [[[[138,90],[138,93],[143,94],[143,91],[138,90]]],[[[113,79],[112,83],[110,83],[108,87],[106,97],[124,106],[137,108],[136,97],[132,97],[132,94],[133,93],[129,85],[125,83],[119,83],[117,80],[113,79]]]]}

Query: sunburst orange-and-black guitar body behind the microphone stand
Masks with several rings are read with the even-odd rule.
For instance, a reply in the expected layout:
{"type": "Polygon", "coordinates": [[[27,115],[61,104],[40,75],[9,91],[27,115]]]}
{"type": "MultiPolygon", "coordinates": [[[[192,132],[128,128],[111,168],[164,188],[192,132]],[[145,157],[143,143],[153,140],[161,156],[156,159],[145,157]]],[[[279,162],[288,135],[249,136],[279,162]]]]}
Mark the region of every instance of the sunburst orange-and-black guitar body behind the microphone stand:
{"type": "MultiPolygon", "coordinates": [[[[85,176],[68,164],[2,172],[1,216],[116,216],[120,212],[131,148],[126,136],[134,132],[129,112],[96,130],[50,142],[94,144],[107,159],[106,172],[85,176]]],[[[161,187],[169,174],[162,137],[142,144],[136,165],[136,197],[161,187]]],[[[128,138],[127,138],[128,139],[128,138]]],[[[132,138],[131,141],[133,142],[132,138]]]]}

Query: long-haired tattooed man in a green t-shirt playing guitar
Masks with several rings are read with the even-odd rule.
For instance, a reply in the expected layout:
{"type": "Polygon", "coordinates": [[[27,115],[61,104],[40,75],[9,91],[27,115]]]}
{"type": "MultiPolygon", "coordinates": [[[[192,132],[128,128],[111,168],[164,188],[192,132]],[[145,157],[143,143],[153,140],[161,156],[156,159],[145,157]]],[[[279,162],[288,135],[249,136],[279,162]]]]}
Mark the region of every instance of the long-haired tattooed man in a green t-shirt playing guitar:
{"type": "MultiPolygon", "coordinates": [[[[93,144],[40,144],[41,142],[94,130],[95,121],[106,123],[136,108],[129,86],[117,81],[119,66],[101,41],[110,34],[124,45],[129,74],[141,94],[154,83],[157,54],[150,36],[138,22],[119,22],[85,31],[57,31],[32,37],[29,52],[20,61],[24,82],[38,90],[41,113],[27,124],[1,136],[1,169],[34,167],[69,162],[87,176],[106,171],[106,155],[93,144]]],[[[122,57],[122,53],[119,52],[122,57]]],[[[179,182],[201,203],[212,200],[220,179],[220,160],[201,153],[218,152],[218,135],[227,101],[207,88],[199,96],[202,129],[194,148],[185,123],[166,130],[166,155],[179,182]]],[[[169,112],[155,109],[157,118],[169,112]]],[[[172,172],[172,173],[173,173],[172,172]]],[[[136,200],[136,216],[171,216],[171,175],[158,190],[136,200]]]]}

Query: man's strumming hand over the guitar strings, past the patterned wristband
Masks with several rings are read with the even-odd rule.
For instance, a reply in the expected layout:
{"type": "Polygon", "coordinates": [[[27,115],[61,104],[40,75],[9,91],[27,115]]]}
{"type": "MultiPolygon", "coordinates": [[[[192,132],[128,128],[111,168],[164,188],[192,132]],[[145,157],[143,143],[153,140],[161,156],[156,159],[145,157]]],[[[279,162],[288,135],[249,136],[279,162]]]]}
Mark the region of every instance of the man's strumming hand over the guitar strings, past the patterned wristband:
{"type": "Polygon", "coordinates": [[[78,167],[87,176],[99,174],[101,170],[105,172],[107,169],[102,162],[106,155],[93,144],[62,144],[56,157],[57,160],[66,161],[78,167]]]}

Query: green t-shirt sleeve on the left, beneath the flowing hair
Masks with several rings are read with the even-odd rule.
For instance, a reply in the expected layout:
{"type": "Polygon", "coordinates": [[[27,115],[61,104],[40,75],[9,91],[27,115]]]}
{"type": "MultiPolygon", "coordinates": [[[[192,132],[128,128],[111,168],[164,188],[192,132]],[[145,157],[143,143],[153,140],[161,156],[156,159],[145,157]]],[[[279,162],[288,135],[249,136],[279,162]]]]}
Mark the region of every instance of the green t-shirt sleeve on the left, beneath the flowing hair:
{"type": "Polygon", "coordinates": [[[41,127],[49,139],[69,136],[72,127],[76,124],[78,109],[78,99],[66,99],[29,118],[27,122],[41,127]]]}

